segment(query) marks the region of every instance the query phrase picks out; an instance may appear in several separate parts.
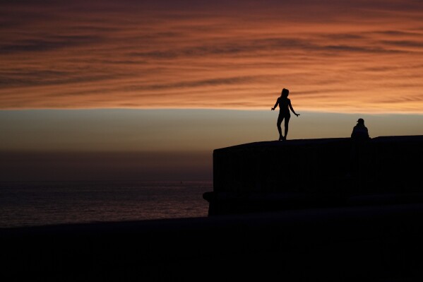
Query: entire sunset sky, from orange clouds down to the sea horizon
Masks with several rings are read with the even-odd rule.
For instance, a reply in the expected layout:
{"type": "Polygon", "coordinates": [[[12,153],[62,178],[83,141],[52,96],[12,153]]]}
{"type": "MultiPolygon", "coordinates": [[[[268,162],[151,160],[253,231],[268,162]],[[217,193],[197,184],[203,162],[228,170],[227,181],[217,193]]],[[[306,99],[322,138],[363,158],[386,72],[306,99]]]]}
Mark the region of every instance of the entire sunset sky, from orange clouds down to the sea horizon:
{"type": "Polygon", "coordinates": [[[423,134],[423,1],[1,1],[3,180],[212,178],[213,149],[423,134]]]}

